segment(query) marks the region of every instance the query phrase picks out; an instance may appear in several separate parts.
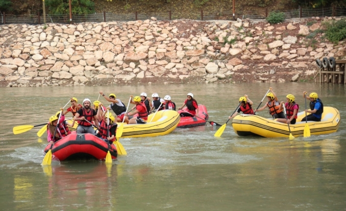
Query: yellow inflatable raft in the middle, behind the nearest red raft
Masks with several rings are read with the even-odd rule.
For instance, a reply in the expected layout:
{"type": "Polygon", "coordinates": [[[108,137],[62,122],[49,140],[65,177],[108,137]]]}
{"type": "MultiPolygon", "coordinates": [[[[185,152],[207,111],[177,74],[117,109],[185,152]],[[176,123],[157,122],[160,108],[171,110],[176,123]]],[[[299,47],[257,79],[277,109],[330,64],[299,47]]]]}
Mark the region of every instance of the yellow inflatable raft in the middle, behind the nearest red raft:
{"type": "MultiPolygon", "coordinates": [[[[72,120],[68,120],[72,121],[72,120]]],[[[122,138],[137,138],[137,137],[153,137],[162,136],[171,133],[180,121],[180,115],[173,110],[158,111],[156,115],[148,116],[146,124],[125,124],[122,138]],[[152,119],[153,118],[153,119],[152,119]],[[152,119],[152,120],[151,120],[152,119]]],[[[121,123],[119,123],[121,124],[121,123]]],[[[69,129],[75,131],[78,123],[74,123],[74,127],[69,129]]]]}

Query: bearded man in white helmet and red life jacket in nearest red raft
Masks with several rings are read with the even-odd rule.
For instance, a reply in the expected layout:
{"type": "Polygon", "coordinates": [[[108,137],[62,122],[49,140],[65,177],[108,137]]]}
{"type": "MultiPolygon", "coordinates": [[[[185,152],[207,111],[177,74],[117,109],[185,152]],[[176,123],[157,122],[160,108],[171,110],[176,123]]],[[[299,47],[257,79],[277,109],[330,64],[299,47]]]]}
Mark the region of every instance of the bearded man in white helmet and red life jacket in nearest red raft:
{"type": "Polygon", "coordinates": [[[91,101],[88,98],[83,100],[84,108],[81,108],[77,111],[74,116],[74,120],[80,120],[79,125],[77,127],[77,133],[91,133],[95,134],[95,130],[93,126],[89,123],[93,119],[95,121],[95,126],[99,126],[99,120],[97,118],[97,113],[94,109],[90,108],[91,101]],[[89,122],[85,121],[88,120],[89,122]]]}

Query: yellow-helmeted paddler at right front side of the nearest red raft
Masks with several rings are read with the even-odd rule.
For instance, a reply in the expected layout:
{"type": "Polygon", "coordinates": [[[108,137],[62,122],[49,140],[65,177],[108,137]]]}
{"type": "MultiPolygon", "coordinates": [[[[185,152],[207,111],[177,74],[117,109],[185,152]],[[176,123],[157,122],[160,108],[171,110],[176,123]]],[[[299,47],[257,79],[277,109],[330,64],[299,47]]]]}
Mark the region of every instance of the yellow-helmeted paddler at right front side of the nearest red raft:
{"type": "Polygon", "coordinates": [[[106,111],[102,112],[102,115],[101,112],[98,111],[98,115],[102,116],[102,119],[100,121],[99,133],[97,134],[97,137],[112,144],[116,139],[115,136],[118,124],[114,122],[115,118],[111,113],[108,112],[108,110],[109,108],[107,108],[106,111]]]}

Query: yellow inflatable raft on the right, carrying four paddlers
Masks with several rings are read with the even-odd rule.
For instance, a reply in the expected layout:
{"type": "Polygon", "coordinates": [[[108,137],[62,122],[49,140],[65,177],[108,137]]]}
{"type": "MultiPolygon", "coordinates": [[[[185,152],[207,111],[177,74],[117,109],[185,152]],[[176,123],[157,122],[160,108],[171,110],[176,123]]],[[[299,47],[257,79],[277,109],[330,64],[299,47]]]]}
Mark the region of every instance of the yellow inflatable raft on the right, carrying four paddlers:
{"type": "MultiPolygon", "coordinates": [[[[294,137],[303,136],[305,112],[297,114],[296,124],[290,124],[294,137]]],[[[311,135],[334,133],[340,125],[340,113],[336,108],[324,107],[321,121],[308,121],[311,135]]],[[[261,136],[267,138],[289,137],[288,125],[277,122],[272,118],[264,118],[256,115],[238,115],[232,121],[233,130],[239,136],[261,136]]]]}

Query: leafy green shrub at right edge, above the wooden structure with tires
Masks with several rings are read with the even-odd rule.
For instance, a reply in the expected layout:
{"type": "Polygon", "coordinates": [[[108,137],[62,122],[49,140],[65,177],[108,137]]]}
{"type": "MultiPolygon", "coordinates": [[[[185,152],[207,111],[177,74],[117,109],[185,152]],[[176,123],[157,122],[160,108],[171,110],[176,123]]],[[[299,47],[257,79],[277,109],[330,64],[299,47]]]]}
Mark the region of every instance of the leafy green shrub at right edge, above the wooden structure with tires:
{"type": "Polygon", "coordinates": [[[325,36],[330,42],[338,43],[346,38],[346,19],[324,23],[327,30],[325,36]]]}

